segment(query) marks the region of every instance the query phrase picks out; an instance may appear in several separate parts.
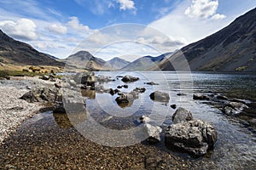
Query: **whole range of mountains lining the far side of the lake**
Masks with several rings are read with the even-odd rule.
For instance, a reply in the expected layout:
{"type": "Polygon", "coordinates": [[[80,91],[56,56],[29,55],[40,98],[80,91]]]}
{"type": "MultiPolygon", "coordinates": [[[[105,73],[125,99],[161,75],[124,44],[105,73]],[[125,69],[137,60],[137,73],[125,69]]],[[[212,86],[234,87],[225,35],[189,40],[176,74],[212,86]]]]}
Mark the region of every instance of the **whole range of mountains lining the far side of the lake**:
{"type": "Polygon", "coordinates": [[[224,29],[176,53],[161,54],[158,57],[144,56],[133,62],[119,58],[105,61],[87,51],[79,51],[67,59],[57,59],[50,54],[38,52],[25,42],[16,41],[0,30],[0,65],[63,67],[66,64],[90,71],[183,71],[186,62],[191,71],[256,72],[256,8],[241,15],[224,29]]]}

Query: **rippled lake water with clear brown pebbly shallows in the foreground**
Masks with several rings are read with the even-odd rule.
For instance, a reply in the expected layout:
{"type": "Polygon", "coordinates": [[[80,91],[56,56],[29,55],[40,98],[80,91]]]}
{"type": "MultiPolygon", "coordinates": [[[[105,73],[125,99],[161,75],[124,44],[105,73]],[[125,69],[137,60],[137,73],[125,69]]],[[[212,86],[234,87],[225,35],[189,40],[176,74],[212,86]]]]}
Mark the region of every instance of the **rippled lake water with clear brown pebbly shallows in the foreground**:
{"type": "MultiPolygon", "coordinates": [[[[99,154],[101,155],[102,152],[106,152],[105,154],[107,154],[107,157],[105,157],[105,159],[108,161],[116,161],[117,164],[119,161],[119,154],[113,157],[110,156],[111,158],[108,158],[108,156],[113,154],[113,152],[121,152],[120,150],[123,150],[121,148],[125,148],[124,150],[129,150],[125,152],[125,154],[130,157],[127,158],[127,162],[131,161],[130,159],[133,153],[131,153],[131,150],[143,150],[140,154],[134,156],[135,160],[131,162],[140,162],[148,156],[147,153],[153,152],[153,154],[149,155],[152,156],[153,159],[154,157],[157,158],[155,159],[155,162],[164,162],[163,165],[161,165],[165,168],[171,168],[169,164],[172,164],[172,162],[168,161],[169,158],[165,157],[168,155],[172,155],[175,159],[183,161],[187,168],[253,169],[253,167],[256,167],[256,130],[255,127],[248,123],[252,117],[226,116],[213,105],[207,105],[206,102],[194,100],[192,97],[193,94],[222,94],[229,98],[244,99],[248,105],[251,105],[252,108],[250,109],[255,111],[255,74],[188,73],[172,71],[100,71],[96,72],[96,75],[112,77],[115,79],[114,82],[102,83],[104,88],[115,89],[119,85],[127,84],[128,88],[120,88],[119,90],[128,93],[134,88],[146,88],[146,91],[139,94],[138,98],[129,103],[129,105],[118,105],[115,101],[118,97],[117,94],[110,95],[108,93],[96,92],[97,89],[96,91],[83,90],[81,95],[86,99],[86,115],[80,116],[80,122],[85,122],[86,120],[91,119],[94,123],[90,124],[90,126],[80,126],[74,124],[73,116],[70,114],[52,114],[51,111],[38,114],[32,117],[32,119],[24,122],[17,133],[7,140],[7,145],[4,145],[7,152],[20,152],[21,154],[24,152],[23,154],[25,155],[30,154],[31,156],[28,156],[27,159],[22,158],[29,167],[29,162],[33,165],[33,161],[31,161],[32,156],[34,159],[37,157],[40,157],[41,159],[42,156],[38,154],[38,152],[35,152],[34,149],[31,148],[32,146],[37,146],[39,148],[38,150],[44,150],[44,154],[50,153],[55,156],[55,153],[60,154],[61,147],[69,148],[69,144],[72,145],[73,148],[76,148],[76,150],[79,150],[78,147],[81,147],[81,150],[85,150],[84,147],[86,147],[86,144],[95,148],[94,143],[96,143],[98,148],[105,150],[98,150],[99,154]],[[139,77],[140,79],[137,82],[124,83],[120,80],[121,78],[116,78],[125,75],[139,77]],[[159,85],[152,86],[144,82],[156,82],[159,85]],[[170,101],[157,102],[150,99],[149,94],[157,90],[168,93],[171,98],[170,101]],[[185,109],[190,110],[195,119],[210,122],[213,127],[217,129],[218,141],[214,150],[210,151],[207,156],[193,158],[187,154],[167,150],[163,141],[155,146],[150,146],[148,144],[140,143],[141,138],[132,139],[130,134],[137,131],[137,127],[140,126],[138,120],[141,116],[149,116],[153,124],[159,125],[163,129],[168,125],[171,125],[172,114],[175,110],[173,110],[170,105],[174,104],[177,105],[177,107],[184,107],[185,109]],[[70,120],[68,120],[68,118],[70,120]],[[76,129],[74,127],[76,127],[76,129]],[[84,128],[86,129],[84,130],[84,128]],[[82,133],[86,139],[82,139],[83,137],[78,132],[82,133]],[[30,137],[30,135],[33,135],[33,138],[30,137]],[[66,143],[64,144],[65,146],[63,145],[65,139],[63,138],[66,138],[66,142],[64,142],[66,143]],[[74,144],[74,141],[70,141],[71,139],[69,138],[72,138],[75,141],[77,140],[77,144],[74,144]],[[89,139],[90,142],[87,139],[89,139]],[[118,140],[118,142],[116,140],[118,140]],[[29,150],[22,145],[27,141],[28,143],[31,143],[29,150]],[[91,141],[93,143],[91,143],[91,141]],[[86,144],[84,144],[84,142],[86,142],[86,144]],[[47,145],[49,143],[54,145],[51,149],[49,149],[49,145],[47,145]],[[111,148],[108,146],[123,147],[111,148]],[[15,149],[18,147],[23,149],[15,149]]],[[[163,134],[161,135],[163,139],[163,134]]],[[[90,151],[88,151],[87,154],[90,154],[90,151]]],[[[3,149],[1,152],[3,153],[3,149]]],[[[73,155],[73,149],[69,148],[69,152],[71,152],[70,155],[73,155]]],[[[84,152],[80,153],[80,151],[77,151],[76,153],[83,156],[84,152]]],[[[95,155],[95,157],[98,158],[99,156],[95,155]]],[[[69,159],[71,158],[66,158],[64,160],[67,161],[69,159]]],[[[83,159],[86,161],[85,158],[78,159],[82,159],[78,162],[83,162],[83,159]]],[[[17,164],[19,164],[18,160],[18,158],[15,159],[17,164]]],[[[36,162],[34,163],[37,165],[36,162]]],[[[50,161],[50,163],[52,162],[50,161]]],[[[147,163],[144,161],[140,163],[143,164],[142,166],[144,166],[144,168],[147,168],[147,163]]],[[[105,165],[101,162],[96,162],[95,164],[95,166],[105,165]]],[[[20,165],[23,164],[21,163],[20,165]]],[[[109,165],[112,164],[110,163],[109,165]]]]}

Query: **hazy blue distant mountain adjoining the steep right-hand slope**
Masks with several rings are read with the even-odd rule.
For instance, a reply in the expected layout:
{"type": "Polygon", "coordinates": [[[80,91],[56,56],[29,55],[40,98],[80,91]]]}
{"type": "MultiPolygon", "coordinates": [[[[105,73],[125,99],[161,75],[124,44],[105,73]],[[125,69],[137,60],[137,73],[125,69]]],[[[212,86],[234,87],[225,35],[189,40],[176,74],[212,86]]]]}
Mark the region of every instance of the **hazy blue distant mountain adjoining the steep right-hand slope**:
{"type": "Polygon", "coordinates": [[[161,54],[158,57],[144,56],[142,58],[136,59],[129,65],[126,65],[121,71],[149,71],[152,70],[156,65],[165,59],[168,55],[172,53],[161,54]]]}

